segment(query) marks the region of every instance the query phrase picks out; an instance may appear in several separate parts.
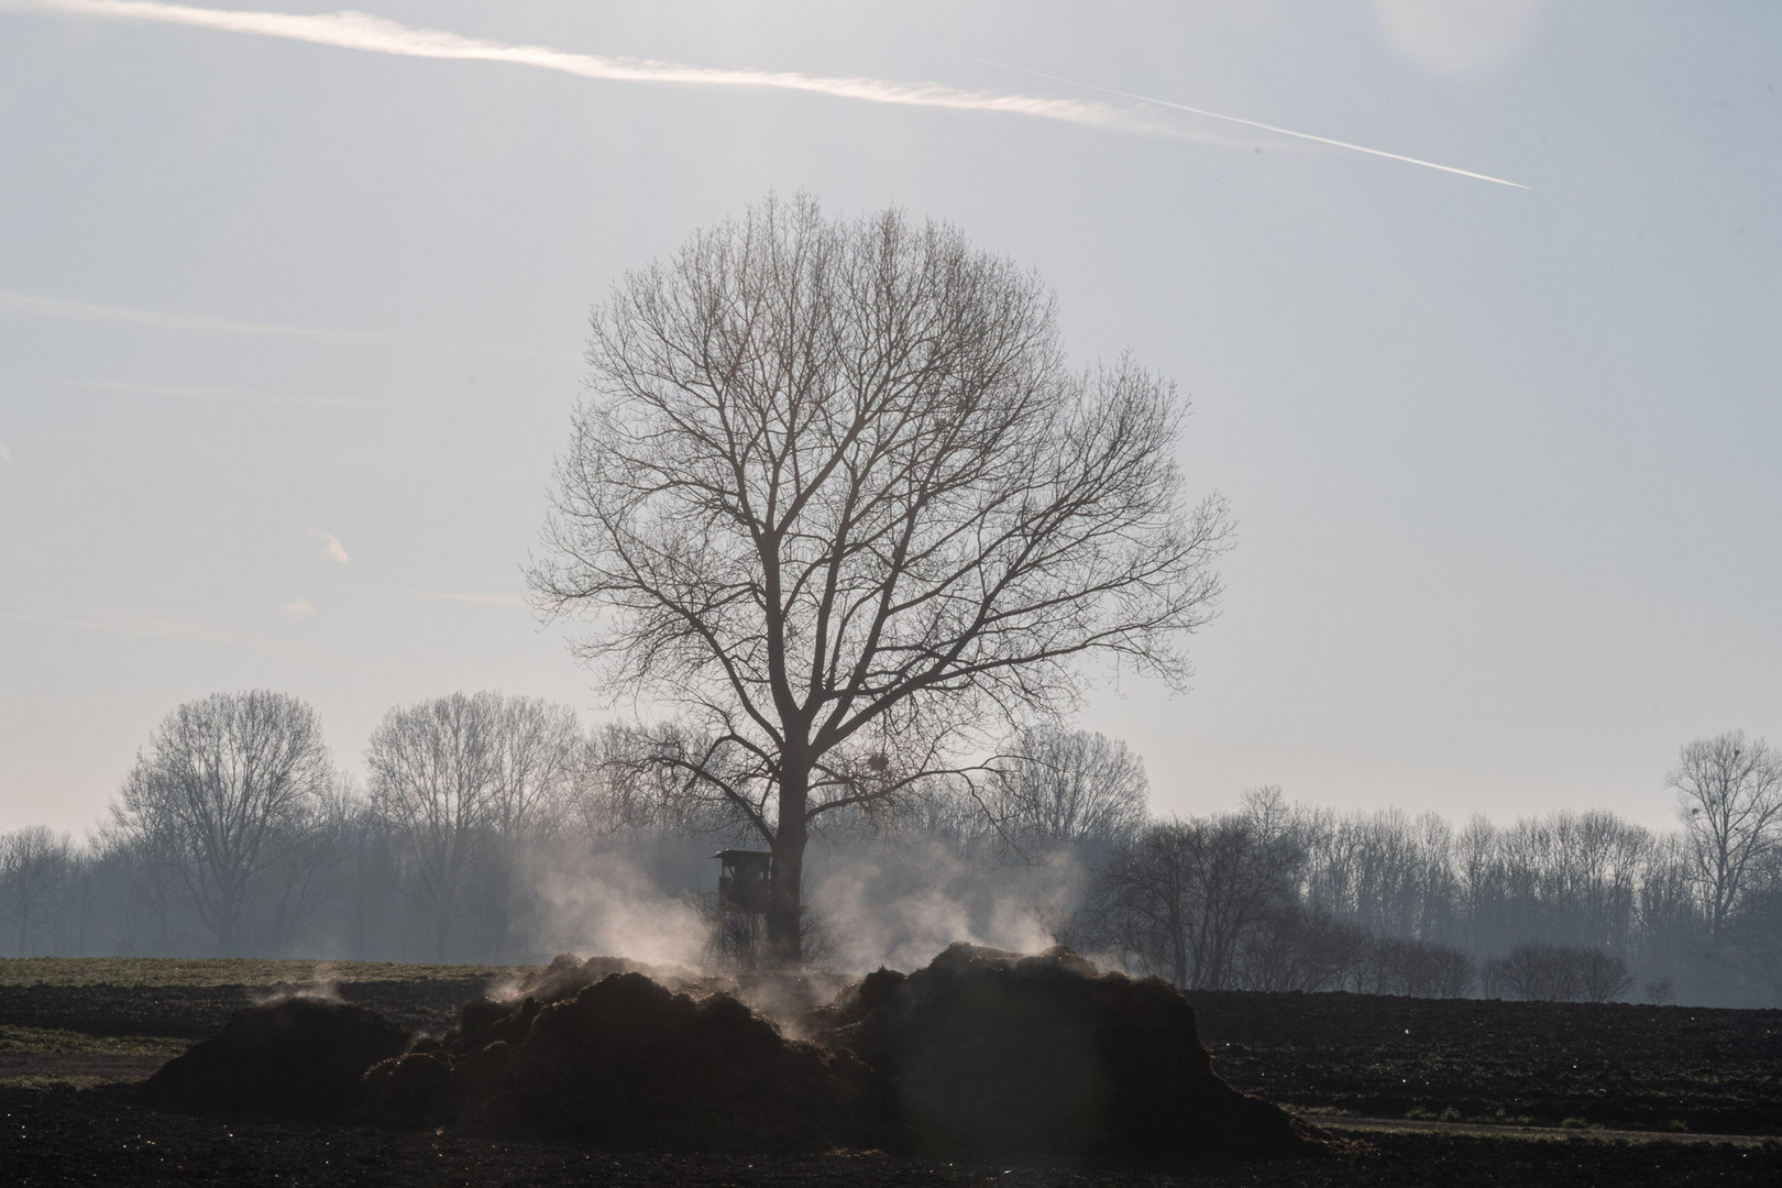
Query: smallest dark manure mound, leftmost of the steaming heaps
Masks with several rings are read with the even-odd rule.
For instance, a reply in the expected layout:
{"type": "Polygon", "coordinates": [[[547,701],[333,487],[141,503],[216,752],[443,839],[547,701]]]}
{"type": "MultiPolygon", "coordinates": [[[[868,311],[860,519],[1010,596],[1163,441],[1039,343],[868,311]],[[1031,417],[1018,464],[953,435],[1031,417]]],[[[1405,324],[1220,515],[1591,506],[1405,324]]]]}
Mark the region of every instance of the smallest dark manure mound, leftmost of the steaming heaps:
{"type": "Polygon", "coordinates": [[[198,1113],[324,1119],[358,1095],[365,1070],[410,1035],[364,1006],[283,997],[235,1012],[223,1031],[169,1060],[143,1101],[198,1113]]]}

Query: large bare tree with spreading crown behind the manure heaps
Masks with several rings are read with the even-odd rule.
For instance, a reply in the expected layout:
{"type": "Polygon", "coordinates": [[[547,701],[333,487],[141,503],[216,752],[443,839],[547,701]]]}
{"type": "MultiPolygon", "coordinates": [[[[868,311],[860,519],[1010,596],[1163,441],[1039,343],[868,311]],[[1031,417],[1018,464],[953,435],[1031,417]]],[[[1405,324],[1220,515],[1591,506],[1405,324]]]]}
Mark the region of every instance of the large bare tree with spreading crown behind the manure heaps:
{"type": "Polygon", "coordinates": [[[659,759],[772,848],[775,960],[822,814],[1071,707],[1083,659],[1185,682],[1228,517],[1183,504],[1174,387],[1071,370],[957,230],[768,199],[615,285],[588,362],[533,590],[684,712],[659,759]]]}

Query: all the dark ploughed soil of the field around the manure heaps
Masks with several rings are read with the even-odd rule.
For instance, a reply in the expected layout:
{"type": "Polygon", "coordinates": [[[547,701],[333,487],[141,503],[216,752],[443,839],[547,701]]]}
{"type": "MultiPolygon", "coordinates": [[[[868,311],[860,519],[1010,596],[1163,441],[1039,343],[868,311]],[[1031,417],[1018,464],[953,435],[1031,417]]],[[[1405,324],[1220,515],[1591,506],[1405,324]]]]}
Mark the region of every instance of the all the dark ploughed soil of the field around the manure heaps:
{"type": "MultiPolygon", "coordinates": [[[[344,985],[405,1028],[444,1035],[481,978],[344,985]]],[[[775,987],[784,992],[784,987],[775,987]]],[[[797,999],[805,994],[793,987],[797,999]]],[[[89,1035],[210,1035],[264,996],[253,989],[0,987],[0,1022],[89,1035]]],[[[805,994],[805,997],[811,997],[805,994]]],[[[486,1140],[446,1129],[244,1120],[153,1111],[125,1085],[0,1085],[5,1184],[1778,1184],[1782,1145],[1720,1143],[1700,1131],[1782,1129],[1782,1012],[1415,1001],[1345,994],[1194,994],[1212,1067],[1244,1090],[1297,1106],[1659,1127],[1650,1142],[1591,1131],[1533,1138],[1379,1133],[1320,1158],[996,1161],[846,1152],[638,1154],[486,1140]],[[1574,1065],[1577,1065],[1574,1069],[1574,1065]],[[1502,1113],[1499,1113],[1502,1111],[1502,1113]],[[1672,1120],[1693,1142],[1663,1138],[1672,1120]]],[[[102,1062],[103,1063],[103,1062],[102,1062]]],[[[128,1063],[128,1062],[127,1062],[128,1063]]],[[[119,1076],[139,1074],[118,1069],[119,1076]]]]}

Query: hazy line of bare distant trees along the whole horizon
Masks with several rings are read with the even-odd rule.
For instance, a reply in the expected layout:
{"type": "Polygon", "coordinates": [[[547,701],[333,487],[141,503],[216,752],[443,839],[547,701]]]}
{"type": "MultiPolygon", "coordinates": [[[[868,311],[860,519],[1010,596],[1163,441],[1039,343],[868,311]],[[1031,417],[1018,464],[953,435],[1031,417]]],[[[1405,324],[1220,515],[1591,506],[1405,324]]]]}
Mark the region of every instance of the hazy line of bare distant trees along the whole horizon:
{"type": "MultiPolygon", "coordinates": [[[[711,851],[747,837],[672,761],[699,745],[453,693],[383,718],[360,787],[301,700],[214,695],[160,723],[84,842],[0,834],[0,944],[433,962],[624,946],[663,905],[681,924],[709,908],[711,851]],[[595,908],[633,930],[577,932],[595,908]]],[[[1278,787],[1160,819],[1124,745],[1030,728],[830,814],[827,885],[852,878],[859,901],[820,885],[809,948],[880,960],[868,917],[921,923],[898,903],[928,901],[932,940],[1019,915],[1185,989],[1782,1005],[1782,759],[1723,734],[1684,746],[1668,784],[1666,834],[1572,810],[1456,828],[1278,787]]]]}

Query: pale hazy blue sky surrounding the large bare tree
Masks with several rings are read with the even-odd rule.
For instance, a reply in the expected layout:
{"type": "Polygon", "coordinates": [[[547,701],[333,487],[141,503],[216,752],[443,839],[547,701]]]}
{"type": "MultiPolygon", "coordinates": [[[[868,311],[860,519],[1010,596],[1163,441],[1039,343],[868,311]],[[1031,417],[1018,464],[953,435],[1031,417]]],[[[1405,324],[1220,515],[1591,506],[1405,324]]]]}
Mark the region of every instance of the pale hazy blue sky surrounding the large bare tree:
{"type": "Polygon", "coordinates": [[[1278,782],[1663,826],[1680,743],[1782,736],[1782,7],[360,7],[1119,114],[0,0],[0,828],[98,819],[216,689],[310,700],[349,769],[451,689],[599,716],[520,579],[586,308],[770,187],[953,221],[1044,274],[1083,360],[1192,395],[1190,486],[1240,522],[1226,613],[1194,693],[1082,718],[1160,810],[1278,782]]]}

